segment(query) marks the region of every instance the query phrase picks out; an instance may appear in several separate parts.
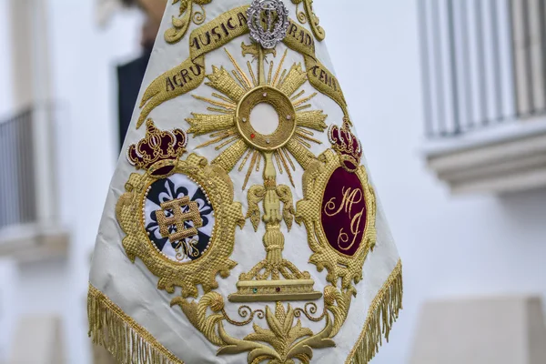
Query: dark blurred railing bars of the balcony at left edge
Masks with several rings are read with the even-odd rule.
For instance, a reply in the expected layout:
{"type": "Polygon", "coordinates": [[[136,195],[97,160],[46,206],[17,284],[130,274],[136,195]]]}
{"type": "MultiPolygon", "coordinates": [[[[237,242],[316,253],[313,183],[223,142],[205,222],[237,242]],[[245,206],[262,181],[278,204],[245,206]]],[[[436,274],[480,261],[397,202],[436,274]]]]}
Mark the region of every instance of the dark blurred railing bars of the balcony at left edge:
{"type": "Polygon", "coordinates": [[[0,122],[0,227],[34,222],[33,111],[0,122]]]}

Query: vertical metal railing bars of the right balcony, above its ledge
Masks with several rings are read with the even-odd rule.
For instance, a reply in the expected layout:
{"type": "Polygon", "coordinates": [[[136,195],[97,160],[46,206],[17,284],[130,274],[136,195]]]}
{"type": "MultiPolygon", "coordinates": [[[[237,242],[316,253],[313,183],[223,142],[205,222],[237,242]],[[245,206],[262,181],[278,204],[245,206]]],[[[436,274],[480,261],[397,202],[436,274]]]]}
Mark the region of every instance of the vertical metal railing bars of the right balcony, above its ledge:
{"type": "Polygon", "coordinates": [[[546,0],[418,0],[425,132],[546,113],[546,0]]]}

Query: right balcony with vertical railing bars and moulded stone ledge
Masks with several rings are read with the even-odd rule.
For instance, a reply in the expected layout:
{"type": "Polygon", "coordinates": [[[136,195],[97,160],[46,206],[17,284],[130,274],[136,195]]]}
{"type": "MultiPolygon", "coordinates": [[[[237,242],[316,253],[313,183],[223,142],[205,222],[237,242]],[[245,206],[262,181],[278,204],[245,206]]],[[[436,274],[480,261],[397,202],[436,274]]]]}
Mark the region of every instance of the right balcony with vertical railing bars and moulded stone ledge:
{"type": "Polygon", "coordinates": [[[546,3],[418,3],[429,167],[457,193],[546,187],[546,3]]]}

